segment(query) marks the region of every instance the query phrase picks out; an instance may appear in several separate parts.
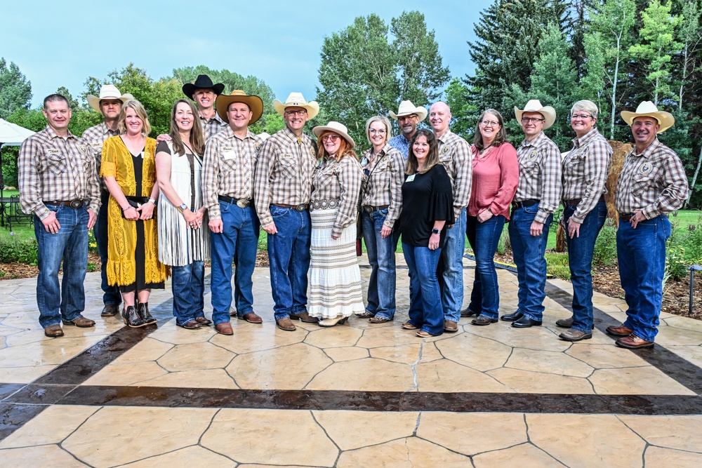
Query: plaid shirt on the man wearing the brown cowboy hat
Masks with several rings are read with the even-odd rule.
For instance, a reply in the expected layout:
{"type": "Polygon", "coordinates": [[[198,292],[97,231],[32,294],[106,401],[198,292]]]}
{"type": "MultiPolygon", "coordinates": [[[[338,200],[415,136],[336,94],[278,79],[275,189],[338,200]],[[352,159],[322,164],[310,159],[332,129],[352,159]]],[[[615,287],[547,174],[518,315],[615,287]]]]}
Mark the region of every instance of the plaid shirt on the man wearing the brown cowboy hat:
{"type": "Polygon", "coordinates": [[[218,195],[253,200],[253,175],[260,138],[246,131],[243,139],[230,126],[207,140],[202,159],[202,197],[211,220],[222,218],[218,195]]]}

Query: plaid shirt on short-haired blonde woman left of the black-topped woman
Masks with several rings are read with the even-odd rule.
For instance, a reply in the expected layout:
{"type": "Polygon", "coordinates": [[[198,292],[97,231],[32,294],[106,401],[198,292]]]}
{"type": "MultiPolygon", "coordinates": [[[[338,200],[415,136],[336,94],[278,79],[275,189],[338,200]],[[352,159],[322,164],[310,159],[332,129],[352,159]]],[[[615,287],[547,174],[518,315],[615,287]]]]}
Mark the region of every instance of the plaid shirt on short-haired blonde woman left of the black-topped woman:
{"type": "Polygon", "coordinates": [[[361,206],[389,205],[383,225],[393,227],[402,211],[404,157],[397,148],[386,143],[371,163],[372,151],[373,148],[369,149],[361,158],[361,167],[364,170],[361,206]]]}

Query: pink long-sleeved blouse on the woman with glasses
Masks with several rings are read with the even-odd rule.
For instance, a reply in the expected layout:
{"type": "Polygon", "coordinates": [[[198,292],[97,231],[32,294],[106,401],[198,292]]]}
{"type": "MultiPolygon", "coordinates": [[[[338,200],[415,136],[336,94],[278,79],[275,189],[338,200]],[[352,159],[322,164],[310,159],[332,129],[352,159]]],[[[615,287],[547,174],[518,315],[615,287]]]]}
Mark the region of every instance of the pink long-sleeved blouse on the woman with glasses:
{"type": "Polygon", "coordinates": [[[473,181],[468,215],[477,216],[490,208],[494,215],[510,219],[510,203],[519,185],[517,150],[509,143],[490,147],[482,156],[472,145],[473,181]]]}

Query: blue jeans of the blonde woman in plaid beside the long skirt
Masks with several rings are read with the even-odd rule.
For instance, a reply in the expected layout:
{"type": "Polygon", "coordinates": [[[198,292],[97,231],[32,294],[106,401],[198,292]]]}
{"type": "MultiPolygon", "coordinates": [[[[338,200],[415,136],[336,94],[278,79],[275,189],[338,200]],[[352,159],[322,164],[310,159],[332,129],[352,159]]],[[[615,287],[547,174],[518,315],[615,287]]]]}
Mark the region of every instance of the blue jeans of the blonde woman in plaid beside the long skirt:
{"type": "Polygon", "coordinates": [[[380,229],[388,208],[373,213],[361,212],[363,239],[371,264],[366,312],[384,319],[395,316],[395,243],[393,234],[383,239],[380,229]]]}

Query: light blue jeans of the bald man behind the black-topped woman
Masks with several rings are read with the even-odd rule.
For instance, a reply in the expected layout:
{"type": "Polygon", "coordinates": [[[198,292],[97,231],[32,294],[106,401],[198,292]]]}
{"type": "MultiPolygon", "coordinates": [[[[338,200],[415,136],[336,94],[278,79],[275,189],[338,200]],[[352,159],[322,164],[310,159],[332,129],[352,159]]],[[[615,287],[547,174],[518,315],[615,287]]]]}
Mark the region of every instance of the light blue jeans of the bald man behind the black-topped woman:
{"type": "Polygon", "coordinates": [[[458,221],[446,228],[446,240],[442,247],[444,264],[441,302],[444,307],[444,320],[458,323],[463,305],[463,252],[465,251],[465,208],[458,221]]]}

